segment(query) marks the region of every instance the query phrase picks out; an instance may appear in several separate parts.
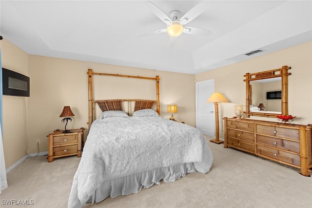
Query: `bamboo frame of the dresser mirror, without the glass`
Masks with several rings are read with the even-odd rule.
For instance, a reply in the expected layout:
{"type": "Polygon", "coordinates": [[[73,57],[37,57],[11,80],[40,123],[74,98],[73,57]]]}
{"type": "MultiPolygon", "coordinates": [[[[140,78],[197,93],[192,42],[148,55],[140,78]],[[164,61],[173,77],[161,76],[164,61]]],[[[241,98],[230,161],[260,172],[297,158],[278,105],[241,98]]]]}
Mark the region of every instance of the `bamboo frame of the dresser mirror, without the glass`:
{"type": "Polygon", "coordinates": [[[276,118],[277,115],[288,115],[288,76],[291,75],[291,73],[288,72],[288,69],[291,69],[289,66],[282,66],[282,68],[279,69],[273,69],[269,71],[262,71],[257,73],[246,73],[244,77],[246,79],[244,82],[246,82],[246,118],[249,118],[250,116],[261,116],[261,117],[272,117],[276,118]],[[252,102],[251,98],[251,86],[250,82],[254,80],[264,80],[264,79],[270,79],[275,77],[281,77],[282,78],[282,113],[281,114],[274,114],[274,113],[259,113],[259,112],[250,112],[249,106],[252,102]]]}

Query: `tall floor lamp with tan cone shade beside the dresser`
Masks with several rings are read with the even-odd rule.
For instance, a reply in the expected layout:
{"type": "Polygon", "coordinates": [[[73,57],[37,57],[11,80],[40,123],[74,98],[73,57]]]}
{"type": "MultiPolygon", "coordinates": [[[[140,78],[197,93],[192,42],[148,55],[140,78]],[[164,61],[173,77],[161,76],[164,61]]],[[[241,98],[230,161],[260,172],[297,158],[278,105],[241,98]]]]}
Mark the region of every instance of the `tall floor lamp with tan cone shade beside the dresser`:
{"type": "Polygon", "coordinates": [[[215,139],[210,140],[215,144],[223,143],[222,140],[219,140],[219,109],[218,103],[226,103],[228,100],[219,92],[214,92],[210,98],[207,100],[207,103],[215,103],[215,139]]]}

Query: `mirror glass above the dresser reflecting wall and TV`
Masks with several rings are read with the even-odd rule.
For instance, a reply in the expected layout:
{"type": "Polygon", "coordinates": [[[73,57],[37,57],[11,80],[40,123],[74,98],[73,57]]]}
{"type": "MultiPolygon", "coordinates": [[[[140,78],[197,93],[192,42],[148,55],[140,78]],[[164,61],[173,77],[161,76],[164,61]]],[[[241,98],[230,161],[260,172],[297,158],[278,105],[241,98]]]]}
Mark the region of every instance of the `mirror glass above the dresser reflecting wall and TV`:
{"type": "Polygon", "coordinates": [[[282,90],[281,77],[252,81],[250,82],[250,89],[252,89],[250,112],[281,114],[282,100],[281,93],[278,93],[282,90]],[[279,96],[273,97],[277,94],[279,96]],[[263,104],[263,110],[259,109],[260,104],[263,104]]]}

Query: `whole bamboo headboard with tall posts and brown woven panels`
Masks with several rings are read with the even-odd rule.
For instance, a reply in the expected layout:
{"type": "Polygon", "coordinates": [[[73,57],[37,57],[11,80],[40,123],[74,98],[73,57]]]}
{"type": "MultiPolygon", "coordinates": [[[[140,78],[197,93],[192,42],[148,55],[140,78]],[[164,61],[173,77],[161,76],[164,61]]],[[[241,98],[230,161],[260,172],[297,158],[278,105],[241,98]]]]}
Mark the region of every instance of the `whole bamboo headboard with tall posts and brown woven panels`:
{"type": "MultiPolygon", "coordinates": [[[[156,111],[160,115],[160,102],[159,102],[159,76],[154,77],[140,77],[140,76],[129,76],[129,75],[120,75],[120,74],[106,74],[106,73],[96,73],[93,72],[92,69],[88,69],[88,89],[89,89],[89,129],[94,121],[94,105],[97,103],[100,107],[101,111],[106,110],[123,110],[122,102],[128,102],[128,106],[130,109],[130,102],[135,102],[134,111],[145,109],[145,108],[152,108],[153,105],[156,103],[156,111]],[[154,80],[156,81],[156,100],[134,100],[134,99],[119,99],[119,100],[99,100],[95,101],[93,97],[93,75],[104,75],[104,76],[115,76],[115,77],[127,77],[127,78],[137,78],[137,79],[144,79],[144,80],[154,80]]],[[[130,112],[128,112],[130,113],[130,112]]]]}

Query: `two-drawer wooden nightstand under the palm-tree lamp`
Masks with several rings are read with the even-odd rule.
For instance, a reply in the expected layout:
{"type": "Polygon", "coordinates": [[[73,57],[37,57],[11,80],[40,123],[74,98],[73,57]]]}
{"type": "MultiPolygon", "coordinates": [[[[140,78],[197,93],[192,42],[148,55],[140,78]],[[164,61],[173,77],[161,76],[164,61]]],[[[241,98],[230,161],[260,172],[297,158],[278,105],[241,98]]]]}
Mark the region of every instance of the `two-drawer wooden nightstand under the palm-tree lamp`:
{"type": "Polygon", "coordinates": [[[63,133],[63,130],[55,130],[47,135],[49,138],[48,162],[53,162],[54,158],[77,155],[81,157],[83,146],[84,128],[71,129],[72,133],[63,133]]]}

